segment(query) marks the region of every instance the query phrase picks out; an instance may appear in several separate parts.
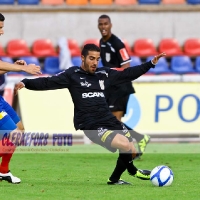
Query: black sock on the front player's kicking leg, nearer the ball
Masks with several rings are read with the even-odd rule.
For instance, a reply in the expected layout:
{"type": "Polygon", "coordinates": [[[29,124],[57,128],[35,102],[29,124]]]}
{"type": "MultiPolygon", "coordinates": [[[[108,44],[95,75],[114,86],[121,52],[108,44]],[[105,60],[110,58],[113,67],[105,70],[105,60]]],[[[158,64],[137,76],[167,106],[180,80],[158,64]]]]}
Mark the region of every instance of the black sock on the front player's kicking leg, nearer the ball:
{"type": "Polygon", "coordinates": [[[120,153],[119,158],[123,160],[124,164],[126,165],[126,169],[131,175],[135,175],[137,172],[137,168],[133,164],[133,158],[132,158],[132,151],[128,151],[125,153],[120,153]]]}

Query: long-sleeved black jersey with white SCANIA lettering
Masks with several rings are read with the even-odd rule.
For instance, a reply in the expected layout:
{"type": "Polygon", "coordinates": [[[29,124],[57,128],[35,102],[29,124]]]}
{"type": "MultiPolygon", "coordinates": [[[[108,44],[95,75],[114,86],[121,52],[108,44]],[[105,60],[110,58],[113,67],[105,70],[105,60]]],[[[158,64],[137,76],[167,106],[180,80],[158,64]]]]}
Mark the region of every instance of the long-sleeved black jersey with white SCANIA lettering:
{"type": "MultiPolygon", "coordinates": [[[[114,116],[107,105],[104,91],[110,86],[134,80],[146,73],[154,65],[151,62],[123,71],[108,67],[97,69],[89,74],[80,67],[71,67],[51,77],[23,79],[25,87],[30,90],[55,90],[68,88],[74,103],[74,126],[84,130],[84,127],[114,116]]],[[[58,102],[59,104],[59,99],[58,102]]]]}

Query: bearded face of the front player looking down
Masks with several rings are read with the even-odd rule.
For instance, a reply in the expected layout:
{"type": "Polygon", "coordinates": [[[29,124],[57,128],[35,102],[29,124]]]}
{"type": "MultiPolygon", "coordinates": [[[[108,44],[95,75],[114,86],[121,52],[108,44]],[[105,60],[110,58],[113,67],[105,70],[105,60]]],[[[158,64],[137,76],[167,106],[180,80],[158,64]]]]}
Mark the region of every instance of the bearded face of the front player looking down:
{"type": "Polygon", "coordinates": [[[90,73],[90,74],[94,74],[97,66],[98,66],[98,62],[100,59],[100,52],[97,51],[89,51],[88,55],[86,57],[81,56],[82,59],[82,68],[90,73]]]}

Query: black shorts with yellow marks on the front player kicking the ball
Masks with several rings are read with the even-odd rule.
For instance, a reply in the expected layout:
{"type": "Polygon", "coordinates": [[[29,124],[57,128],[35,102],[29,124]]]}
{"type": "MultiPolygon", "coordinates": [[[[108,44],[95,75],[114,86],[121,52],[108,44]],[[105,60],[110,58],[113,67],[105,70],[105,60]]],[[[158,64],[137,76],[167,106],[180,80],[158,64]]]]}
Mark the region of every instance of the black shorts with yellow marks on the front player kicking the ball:
{"type": "Polygon", "coordinates": [[[90,125],[85,127],[83,131],[92,142],[101,145],[113,153],[116,152],[117,149],[111,147],[111,142],[116,134],[122,134],[127,137],[130,142],[133,141],[129,130],[116,118],[90,125]]]}

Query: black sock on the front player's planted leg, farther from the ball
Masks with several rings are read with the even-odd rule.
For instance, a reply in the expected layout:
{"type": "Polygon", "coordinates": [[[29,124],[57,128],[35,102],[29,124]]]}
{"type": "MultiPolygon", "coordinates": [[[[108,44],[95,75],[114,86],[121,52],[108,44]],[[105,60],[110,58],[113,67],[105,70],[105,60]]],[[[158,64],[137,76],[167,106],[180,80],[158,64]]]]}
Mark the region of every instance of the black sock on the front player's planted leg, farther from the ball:
{"type": "Polygon", "coordinates": [[[112,175],[110,176],[109,180],[113,182],[118,181],[125,170],[126,170],[126,165],[119,156],[117,159],[116,167],[112,175]]]}

